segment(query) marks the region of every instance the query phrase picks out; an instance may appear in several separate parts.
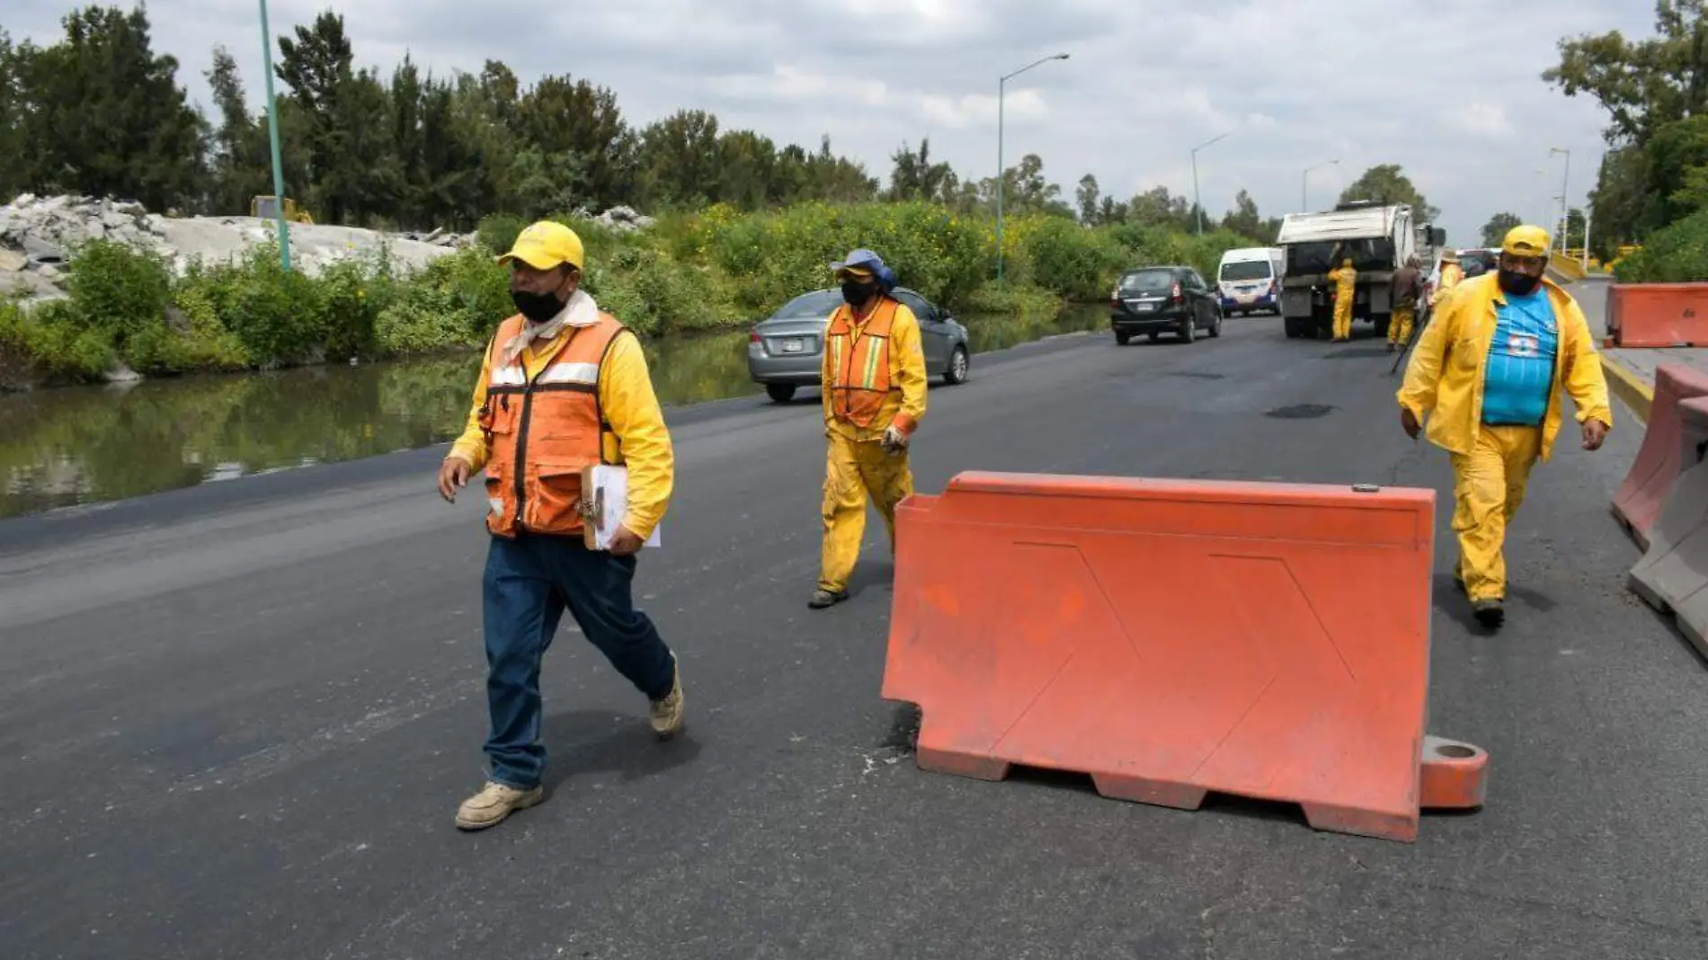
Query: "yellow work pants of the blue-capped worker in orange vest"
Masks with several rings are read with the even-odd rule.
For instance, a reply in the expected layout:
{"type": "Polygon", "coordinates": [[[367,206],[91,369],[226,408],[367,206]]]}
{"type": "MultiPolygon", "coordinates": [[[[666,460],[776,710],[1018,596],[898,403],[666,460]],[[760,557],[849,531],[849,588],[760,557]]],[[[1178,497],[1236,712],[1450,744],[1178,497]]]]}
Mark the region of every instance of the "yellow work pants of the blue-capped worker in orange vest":
{"type": "Polygon", "coordinates": [[[914,492],[907,451],[888,453],[880,442],[861,442],[830,434],[825,460],[825,548],[818,589],[842,593],[854,574],[859,545],[866,536],[866,500],[878,506],[895,553],[895,504],[914,492]]]}

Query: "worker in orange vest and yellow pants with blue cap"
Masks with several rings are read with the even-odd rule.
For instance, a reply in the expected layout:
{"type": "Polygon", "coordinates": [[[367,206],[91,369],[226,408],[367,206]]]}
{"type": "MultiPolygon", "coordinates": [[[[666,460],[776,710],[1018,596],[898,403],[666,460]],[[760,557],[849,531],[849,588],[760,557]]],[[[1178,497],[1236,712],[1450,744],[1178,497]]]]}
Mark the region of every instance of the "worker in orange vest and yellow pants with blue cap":
{"type": "Polygon", "coordinates": [[[869,249],[830,265],[842,304],[825,328],[825,545],[808,606],[849,598],[866,535],[866,500],[878,506],[895,552],[895,506],[914,492],[907,448],[926,415],[926,355],[919,318],[890,296],[895,273],[869,249]]]}

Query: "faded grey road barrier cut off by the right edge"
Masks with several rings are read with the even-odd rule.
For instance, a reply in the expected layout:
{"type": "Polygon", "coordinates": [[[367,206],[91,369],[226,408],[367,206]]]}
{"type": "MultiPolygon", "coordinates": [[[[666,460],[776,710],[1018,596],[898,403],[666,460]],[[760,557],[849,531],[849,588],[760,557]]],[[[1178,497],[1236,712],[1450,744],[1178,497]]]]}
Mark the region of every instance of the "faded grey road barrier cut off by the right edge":
{"type": "Polygon", "coordinates": [[[1708,656],[1708,396],[1677,405],[1684,470],[1667,492],[1629,586],[1708,656]]]}

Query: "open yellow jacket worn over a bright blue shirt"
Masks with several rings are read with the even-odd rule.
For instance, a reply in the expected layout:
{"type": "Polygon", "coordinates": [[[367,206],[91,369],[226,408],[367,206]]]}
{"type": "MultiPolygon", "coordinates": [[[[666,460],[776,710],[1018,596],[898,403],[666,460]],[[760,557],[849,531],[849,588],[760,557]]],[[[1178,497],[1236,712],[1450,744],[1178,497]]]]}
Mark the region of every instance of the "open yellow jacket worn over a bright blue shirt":
{"type": "MultiPolygon", "coordinates": [[[[1571,294],[1551,280],[1544,278],[1542,285],[1559,326],[1556,388],[1542,419],[1542,460],[1547,460],[1563,419],[1561,386],[1571,395],[1580,424],[1594,417],[1612,427],[1612,408],[1583,311],[1571,294]]],[[[1423,328],[1406,366],[1399,405],[1411,410],[1419,424],[1426,422],[1424,436],[1430,442],[1452,453],[1469,454],[1476,448],[1483,424],[1483,374],[1494,340],[1494,309],[1505,302],[1494,273],[1465,280],[1436,307],[1435,319],[1423,328]]]]}

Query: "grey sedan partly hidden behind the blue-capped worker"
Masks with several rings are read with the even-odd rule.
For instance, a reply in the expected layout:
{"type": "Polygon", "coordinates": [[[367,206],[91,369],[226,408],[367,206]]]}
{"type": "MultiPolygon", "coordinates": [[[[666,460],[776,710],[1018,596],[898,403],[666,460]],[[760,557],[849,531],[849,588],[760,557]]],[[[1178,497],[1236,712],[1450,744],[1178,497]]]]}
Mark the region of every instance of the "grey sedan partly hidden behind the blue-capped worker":
{"type": "MultiPolygon", "coordinates": [[[[907,287],[892,294],[919,318],[919,340],[926,352],[926,374],[943,383],[967,383],[972,372],[972,348],[967,328],[955,316],[907,287]]],[[[825,362],[825,326],[842,304],[842,290],[827,289],[801,294],[777,307],[748,335],[748,374],[765,384],[777,403],[787,403],[803,386],[818,386],[825,362]]]]}

